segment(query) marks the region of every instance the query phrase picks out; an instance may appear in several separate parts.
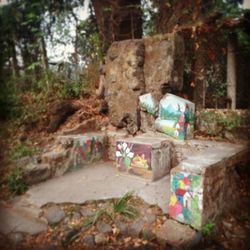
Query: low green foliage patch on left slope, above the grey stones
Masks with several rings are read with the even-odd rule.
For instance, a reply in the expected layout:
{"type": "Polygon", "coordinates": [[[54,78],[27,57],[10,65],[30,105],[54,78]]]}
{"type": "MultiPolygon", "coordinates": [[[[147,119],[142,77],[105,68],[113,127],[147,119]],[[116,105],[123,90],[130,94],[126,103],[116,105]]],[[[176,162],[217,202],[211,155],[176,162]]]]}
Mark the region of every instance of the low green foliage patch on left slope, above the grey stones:
{"type": "Polygon", "coordinates": [[[13,160],[18,160],[25,156],[33,156],[38,152],[38,149],[30,143],[18,142],[11,150],[10,157],[13,160]]]}

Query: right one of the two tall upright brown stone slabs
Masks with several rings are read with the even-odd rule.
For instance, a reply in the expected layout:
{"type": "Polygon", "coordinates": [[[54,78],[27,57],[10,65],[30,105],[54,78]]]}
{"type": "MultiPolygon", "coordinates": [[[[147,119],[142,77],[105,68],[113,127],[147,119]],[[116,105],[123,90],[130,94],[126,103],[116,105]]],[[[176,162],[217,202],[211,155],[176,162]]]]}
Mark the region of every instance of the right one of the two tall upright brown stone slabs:
{"type": "Polygon", "coordinates": [[[176,33],[144,39],[146,92],[160,99],[183,88],[184,41],[176,33]]]}

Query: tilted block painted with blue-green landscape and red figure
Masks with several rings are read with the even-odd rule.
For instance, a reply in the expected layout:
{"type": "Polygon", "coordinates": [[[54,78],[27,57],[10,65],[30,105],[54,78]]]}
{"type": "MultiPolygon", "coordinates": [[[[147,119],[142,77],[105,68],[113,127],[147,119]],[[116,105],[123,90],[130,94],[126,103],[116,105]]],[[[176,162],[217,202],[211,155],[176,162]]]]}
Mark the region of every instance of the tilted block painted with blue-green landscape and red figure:
{"type": "Polygon", "coordinates": [[[194,103],[166,94],[160,101],[159,117],[155,121],[155,127],[160,132],[180,140],[192,138],[194,114],[194,103]]]}

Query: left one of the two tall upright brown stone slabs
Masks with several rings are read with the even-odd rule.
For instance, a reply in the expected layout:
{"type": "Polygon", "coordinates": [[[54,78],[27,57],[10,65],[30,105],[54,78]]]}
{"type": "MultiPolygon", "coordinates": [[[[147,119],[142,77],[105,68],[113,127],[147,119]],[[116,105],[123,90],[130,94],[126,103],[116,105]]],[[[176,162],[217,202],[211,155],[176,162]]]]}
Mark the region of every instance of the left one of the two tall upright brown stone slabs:
{"type": "Polygon", "coordinates": [[[114,42],[106,58],[105,100],[110,122],[134,134],[139,129],[138,98],[144,91],[144,42],[114,42]],[[110,56],[114,54],[116,57],[110,56]]]}

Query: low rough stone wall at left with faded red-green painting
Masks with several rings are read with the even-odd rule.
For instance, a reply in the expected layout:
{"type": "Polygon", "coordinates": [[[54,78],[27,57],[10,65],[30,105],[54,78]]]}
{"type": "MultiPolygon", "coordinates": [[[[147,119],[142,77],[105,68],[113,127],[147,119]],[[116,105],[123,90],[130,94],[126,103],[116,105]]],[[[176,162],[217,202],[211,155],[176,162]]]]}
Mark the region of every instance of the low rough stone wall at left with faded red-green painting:
{"type": "Polygon", "coordinates": [[[104,133],[86,133],[58,136],[52,149],[42,155],[42,163],[51,166],[51,176],[102,160],[106,153],[104,133]]]}

